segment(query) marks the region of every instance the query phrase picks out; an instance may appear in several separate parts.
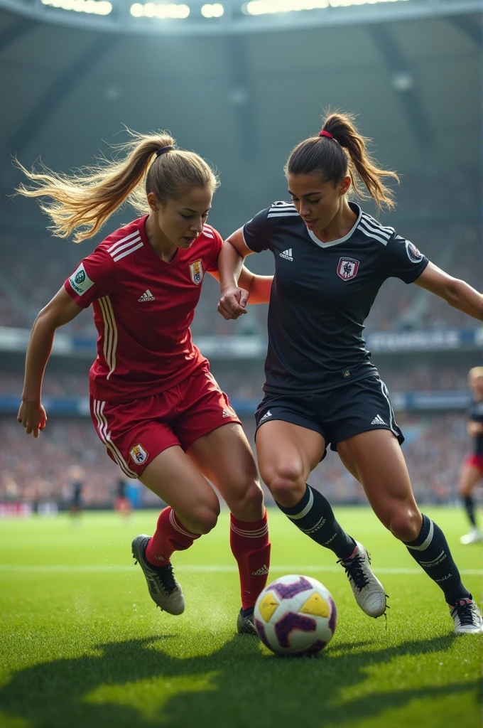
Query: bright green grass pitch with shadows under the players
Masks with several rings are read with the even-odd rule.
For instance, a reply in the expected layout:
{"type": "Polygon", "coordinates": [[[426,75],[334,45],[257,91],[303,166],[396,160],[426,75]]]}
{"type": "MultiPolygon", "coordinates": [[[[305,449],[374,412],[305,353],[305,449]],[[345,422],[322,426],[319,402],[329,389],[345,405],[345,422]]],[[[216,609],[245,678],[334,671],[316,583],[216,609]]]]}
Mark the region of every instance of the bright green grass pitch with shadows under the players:
{"type": "MultiPolygon", "coordinates": [[[[478,546],[459,510],[428,509],[474,596],[478,546]]],[[[455,637],[439,588],[369,510],[338,508],[390,595],[387,628],[354,602],[335,557],[269,513],[271,577],[308,573],[338,606],[322,653],[280,658],[235,631],[239,587],[228,515],[175,555],[187,608],[162,614],[130,554],[156,513],[0,524],[1,728],[407,728],[479,721],[482,638],[455,637]]]]}

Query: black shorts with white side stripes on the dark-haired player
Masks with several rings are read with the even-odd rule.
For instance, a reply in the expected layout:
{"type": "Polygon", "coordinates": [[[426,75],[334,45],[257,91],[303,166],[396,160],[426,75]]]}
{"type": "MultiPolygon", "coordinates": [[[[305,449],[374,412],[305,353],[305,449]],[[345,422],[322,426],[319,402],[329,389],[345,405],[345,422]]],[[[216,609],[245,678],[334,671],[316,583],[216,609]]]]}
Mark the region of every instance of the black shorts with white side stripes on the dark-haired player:
{"type": "MultiPolygon", "coordinates": [[[[255,412],[257,432],[263,424],[275,419],[319,432],[326,446],[335,451],[337,443],[370,430],[390,430],[400,445],[404,443],[404,435],[394,419],[388,388],[376,376],[330,392],[265,395],[255,412]]],[[[322,459],[326,454],[327,451],[322,459]]]]}

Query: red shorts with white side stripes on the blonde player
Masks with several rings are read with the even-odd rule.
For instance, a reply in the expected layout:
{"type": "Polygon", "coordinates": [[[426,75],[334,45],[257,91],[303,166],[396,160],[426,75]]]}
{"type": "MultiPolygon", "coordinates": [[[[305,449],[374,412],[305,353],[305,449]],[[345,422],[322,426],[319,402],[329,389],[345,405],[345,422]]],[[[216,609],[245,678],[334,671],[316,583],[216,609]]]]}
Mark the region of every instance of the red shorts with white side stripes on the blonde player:
{"type": "Polygon", "coordinates": [[[156,455],[173,445],[186,451],[223,424],[241,424],[206,365],[159,395],[122,403],[91,397],[90,408],[108,456],[129,478],[139,478],[156,455]]]}

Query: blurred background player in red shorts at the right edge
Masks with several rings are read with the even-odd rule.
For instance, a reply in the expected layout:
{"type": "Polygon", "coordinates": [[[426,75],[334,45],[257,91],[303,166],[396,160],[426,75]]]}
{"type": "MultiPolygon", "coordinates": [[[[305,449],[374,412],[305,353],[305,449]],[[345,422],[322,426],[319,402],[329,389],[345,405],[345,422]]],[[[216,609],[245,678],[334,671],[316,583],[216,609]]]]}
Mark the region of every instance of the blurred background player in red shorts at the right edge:
{"type": "Polygon", "coordinates": [[[476,366],[468,373],[468,387],[473,402],[468,410],[468,435],[473,440],[473,452],[468,455],[461,468],[458,492],[463,499],[471,529],[460,538],[462,544],[473,544],[483,539],[482,529],[476,523],[474,490],[483,478],[483,366],[476,366]]]}

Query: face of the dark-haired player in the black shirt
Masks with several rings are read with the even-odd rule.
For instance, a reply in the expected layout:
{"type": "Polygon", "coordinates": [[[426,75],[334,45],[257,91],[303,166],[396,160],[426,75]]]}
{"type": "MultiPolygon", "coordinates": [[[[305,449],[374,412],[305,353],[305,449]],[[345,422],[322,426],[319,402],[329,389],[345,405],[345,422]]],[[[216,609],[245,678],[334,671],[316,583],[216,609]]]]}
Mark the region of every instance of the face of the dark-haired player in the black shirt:
{"type": "Polygon", "coordinates": [[[340,210],[344,195],[351,186],[351,178],[340,183],[323,182],[319,175],[288,175],[289,193],[298,213],[308,229],[324,230],[340,210]]]}

